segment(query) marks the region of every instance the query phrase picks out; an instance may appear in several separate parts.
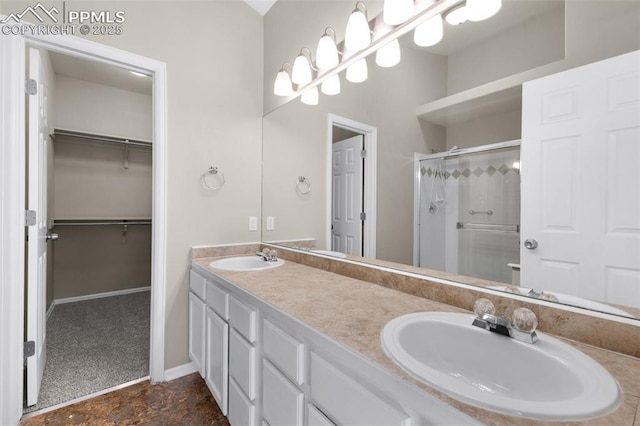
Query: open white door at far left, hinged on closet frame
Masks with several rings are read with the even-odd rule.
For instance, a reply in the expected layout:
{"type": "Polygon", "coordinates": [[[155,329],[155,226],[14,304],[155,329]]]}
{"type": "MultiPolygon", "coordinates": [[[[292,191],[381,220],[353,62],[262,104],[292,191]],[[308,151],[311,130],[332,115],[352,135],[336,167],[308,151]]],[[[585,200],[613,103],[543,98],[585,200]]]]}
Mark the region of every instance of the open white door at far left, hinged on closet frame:
{"type": "Polygon", "coordinates": [[[28,96],[28,209],[36,212],[29,226],[27,243],[27,341],[35,342],[35,355],[27,358],[27,405],[38,402],[47,359],[47,79],[40,52],[29,50],[29,79],[37,82],[37,93],[28,96]]]}

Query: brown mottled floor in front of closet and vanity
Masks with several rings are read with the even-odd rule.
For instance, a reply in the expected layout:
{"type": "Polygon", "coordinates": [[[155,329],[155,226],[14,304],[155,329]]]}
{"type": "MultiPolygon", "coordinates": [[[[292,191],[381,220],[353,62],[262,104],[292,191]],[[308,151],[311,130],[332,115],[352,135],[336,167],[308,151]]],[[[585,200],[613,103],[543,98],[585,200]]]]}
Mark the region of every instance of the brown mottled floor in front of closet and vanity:
{"type": "Polygon", "coordinates": [[[229,426],[198,373],[170,382],[142,382],[48,413],[21,426],[214,425],[229,426]]]}

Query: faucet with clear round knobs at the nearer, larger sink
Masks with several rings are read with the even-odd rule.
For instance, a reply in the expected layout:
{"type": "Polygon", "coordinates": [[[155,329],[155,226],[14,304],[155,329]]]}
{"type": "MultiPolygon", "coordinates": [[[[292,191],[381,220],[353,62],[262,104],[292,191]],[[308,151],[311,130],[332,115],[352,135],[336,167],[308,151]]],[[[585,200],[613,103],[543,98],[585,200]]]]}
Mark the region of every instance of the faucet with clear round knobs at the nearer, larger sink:
{"type": "Polygon", "coordinates": [[[513,311],[513,322],[495,315],[495,307],[487,299],[478,299],[473,310],[477,316],[472,325],[476,327],[526,343],[538,341],[538,335],[535,332],[538,320],[530,309],[517,308],[513,311]]]}

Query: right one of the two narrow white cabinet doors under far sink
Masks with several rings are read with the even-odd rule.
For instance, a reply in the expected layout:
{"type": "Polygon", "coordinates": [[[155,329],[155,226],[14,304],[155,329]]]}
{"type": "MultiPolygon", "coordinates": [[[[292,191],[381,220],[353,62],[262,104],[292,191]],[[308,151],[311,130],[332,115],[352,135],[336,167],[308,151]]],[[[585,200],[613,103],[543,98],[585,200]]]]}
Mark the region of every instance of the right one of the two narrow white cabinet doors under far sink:
{"type": "Polygon", "coordinates": [[[207,366],[205,382],[222,414],[227,415],[229,391],[229,325],[211,309],[207,315],[207,366]]]}

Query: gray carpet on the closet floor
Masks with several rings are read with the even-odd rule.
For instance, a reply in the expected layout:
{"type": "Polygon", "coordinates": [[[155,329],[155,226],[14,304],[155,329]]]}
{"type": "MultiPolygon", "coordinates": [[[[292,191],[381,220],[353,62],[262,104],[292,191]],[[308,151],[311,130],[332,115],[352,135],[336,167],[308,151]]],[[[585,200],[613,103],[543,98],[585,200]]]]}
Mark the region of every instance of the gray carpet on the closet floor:
{"type": "Polygon", "coordinates": [[[56,305],[47,321],[41,410],[149,375],[150,292],[56,305]]]}

